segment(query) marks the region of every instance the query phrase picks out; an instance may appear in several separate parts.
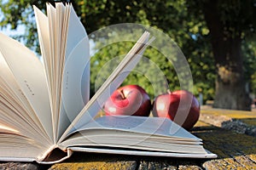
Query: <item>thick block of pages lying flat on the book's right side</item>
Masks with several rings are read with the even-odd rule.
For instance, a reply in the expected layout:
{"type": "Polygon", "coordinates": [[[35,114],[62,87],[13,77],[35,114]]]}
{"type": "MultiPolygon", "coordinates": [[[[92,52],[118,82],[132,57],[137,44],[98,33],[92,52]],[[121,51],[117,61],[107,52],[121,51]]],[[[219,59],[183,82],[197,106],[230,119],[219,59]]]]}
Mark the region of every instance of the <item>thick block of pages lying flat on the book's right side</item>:
{"type": "Polygon", "coordinates": [[[201,139],[166,118],[103,116],[84,126],[61,144],[108,146],[137,150],[206,154],[201,139]],[[176,128],[175,133],[173,128],[176,128]]]}

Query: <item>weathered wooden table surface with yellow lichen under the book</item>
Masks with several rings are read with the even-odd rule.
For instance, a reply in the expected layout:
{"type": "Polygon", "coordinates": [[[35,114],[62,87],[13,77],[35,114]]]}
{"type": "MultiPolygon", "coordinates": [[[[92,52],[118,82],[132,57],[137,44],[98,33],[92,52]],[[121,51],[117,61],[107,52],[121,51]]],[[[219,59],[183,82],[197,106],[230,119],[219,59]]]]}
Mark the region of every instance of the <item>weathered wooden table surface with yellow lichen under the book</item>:
{"type": "Polygon", "coordinates": [[[76,152],[55,165],[0,162],[1,169],[256,169],[256,112],[203,109],[191,133],[215,159],[120,156],[76,152]]]}

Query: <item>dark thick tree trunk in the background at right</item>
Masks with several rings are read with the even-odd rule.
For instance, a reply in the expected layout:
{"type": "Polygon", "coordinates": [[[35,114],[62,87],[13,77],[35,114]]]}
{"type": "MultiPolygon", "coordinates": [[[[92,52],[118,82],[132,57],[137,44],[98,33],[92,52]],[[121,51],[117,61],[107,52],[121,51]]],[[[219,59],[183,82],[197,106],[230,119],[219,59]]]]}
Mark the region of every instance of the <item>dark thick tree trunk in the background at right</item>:
{"type": "Polygon", "coordinates": [[[241,32],[230,32],[228,23],[220,20],[218,1],[206,1],[203,12],[210,31],[217,70],[213,107],[251,110],[246,92],[241,56],[241,32]]]}

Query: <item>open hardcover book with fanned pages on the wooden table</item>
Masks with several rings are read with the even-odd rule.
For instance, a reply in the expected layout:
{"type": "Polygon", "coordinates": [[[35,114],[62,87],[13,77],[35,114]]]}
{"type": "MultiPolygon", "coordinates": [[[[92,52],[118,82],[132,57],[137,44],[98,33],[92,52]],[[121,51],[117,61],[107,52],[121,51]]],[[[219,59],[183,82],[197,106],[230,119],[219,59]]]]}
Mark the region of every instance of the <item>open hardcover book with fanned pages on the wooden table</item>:
{"type": "Polygon", "coordinates": [[[43,64],[0,33],[0,161],[54,163],[73,151],[216,157],[168,119],[97,116],[153,40],[148,31],[90,99],[89,39],[73,6],[34,12],[43,64]]]}

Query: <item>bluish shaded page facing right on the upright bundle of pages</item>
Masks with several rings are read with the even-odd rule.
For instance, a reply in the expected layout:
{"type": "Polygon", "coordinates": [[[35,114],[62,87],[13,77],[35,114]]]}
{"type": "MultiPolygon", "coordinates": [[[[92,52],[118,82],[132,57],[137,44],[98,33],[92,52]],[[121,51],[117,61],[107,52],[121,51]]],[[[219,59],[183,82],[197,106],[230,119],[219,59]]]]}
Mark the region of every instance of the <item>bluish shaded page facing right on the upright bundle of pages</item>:
{"type": "Polygon", "coordinates": [[[65,67],[61,84],[59,137],[83,109],[90,97],[89,40],[84,26],[72,6],[67,29],[65,67]]]}

